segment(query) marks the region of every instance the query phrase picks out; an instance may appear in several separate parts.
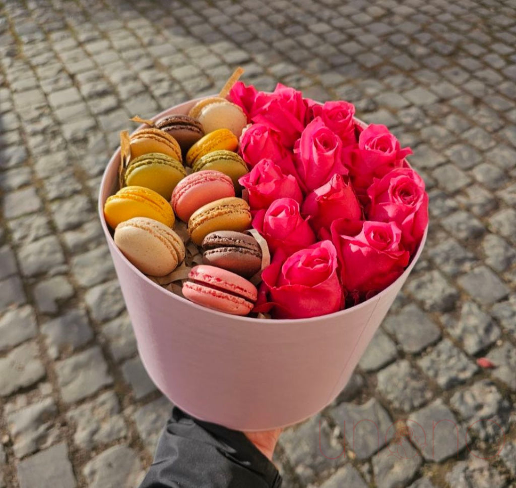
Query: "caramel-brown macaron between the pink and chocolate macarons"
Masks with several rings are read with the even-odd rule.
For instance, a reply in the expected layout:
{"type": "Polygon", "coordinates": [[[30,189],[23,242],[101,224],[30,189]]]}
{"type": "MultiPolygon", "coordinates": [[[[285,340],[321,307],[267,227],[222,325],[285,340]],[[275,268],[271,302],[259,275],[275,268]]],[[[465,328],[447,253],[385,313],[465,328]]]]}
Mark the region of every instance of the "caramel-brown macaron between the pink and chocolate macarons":
{"type": "Polygon", "coordinates": [[[249,204],[240,198],[229,197],[207,203],[188,219],[188,234],[193,243],[201,245],[210,232],[242,232],[251,226],[249,204]]]}

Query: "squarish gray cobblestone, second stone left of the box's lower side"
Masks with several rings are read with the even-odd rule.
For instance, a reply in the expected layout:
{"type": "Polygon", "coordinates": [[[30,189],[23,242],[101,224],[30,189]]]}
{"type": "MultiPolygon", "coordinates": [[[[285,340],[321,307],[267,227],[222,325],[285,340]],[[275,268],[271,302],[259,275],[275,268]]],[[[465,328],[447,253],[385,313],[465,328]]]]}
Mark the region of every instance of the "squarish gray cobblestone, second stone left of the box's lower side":
{"type": "Polygon", "coordinates": [[[57,361],[55,369],[62,399],[67,403],[89,397],[113,382],[98,346],[57,361]]]}

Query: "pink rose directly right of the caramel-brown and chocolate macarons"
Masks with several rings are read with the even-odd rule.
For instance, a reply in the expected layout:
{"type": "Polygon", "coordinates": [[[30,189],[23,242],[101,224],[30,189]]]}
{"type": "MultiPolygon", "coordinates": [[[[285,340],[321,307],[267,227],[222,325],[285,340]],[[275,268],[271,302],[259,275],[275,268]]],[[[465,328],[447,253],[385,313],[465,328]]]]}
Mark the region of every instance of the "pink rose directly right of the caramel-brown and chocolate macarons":
{"type": "Polygon", "coordinates": [[[281,247],[287,256],[316,240],[312,228],[301,217],[299,203],[291,198],[275,200],[267,210],[257,211],[252,226],[262,234],[272,252],[281,247]]]}

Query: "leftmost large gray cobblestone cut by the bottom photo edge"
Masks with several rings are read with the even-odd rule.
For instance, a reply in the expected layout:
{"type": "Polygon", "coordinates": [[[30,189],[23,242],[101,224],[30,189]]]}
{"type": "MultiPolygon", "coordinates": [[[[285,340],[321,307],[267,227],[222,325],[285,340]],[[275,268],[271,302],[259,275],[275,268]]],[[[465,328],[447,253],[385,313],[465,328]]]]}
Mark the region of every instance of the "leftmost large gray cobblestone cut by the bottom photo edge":
{"type": "Polygon", "coordinates": [[[75,488],[77,481],[66,443],[38,452],[18,465],[20,488],[75,488]]]}

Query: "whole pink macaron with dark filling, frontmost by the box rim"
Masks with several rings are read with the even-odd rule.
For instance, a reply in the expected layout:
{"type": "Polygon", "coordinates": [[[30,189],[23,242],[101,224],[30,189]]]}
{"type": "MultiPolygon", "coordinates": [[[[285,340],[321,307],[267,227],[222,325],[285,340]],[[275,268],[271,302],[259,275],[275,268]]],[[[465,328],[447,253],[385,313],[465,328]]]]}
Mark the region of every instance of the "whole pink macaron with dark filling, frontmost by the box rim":
{"type": "Polygon", "coordinates": [[[258,291],[245,278],[214,266],[194,266],[183,284],[183,295],[194,303],[219,312],[247,315],[258,291]]]}

